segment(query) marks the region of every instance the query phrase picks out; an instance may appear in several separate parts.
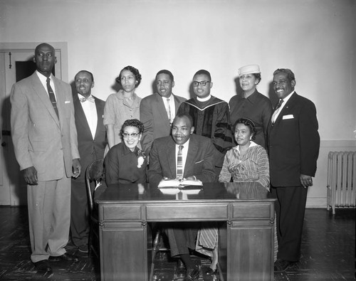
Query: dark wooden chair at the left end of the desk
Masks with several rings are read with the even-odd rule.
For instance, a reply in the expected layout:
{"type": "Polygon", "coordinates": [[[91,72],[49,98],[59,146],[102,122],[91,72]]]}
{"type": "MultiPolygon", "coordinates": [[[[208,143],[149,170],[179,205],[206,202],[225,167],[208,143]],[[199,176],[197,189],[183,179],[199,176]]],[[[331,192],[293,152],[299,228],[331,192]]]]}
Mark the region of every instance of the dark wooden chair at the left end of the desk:
{"type": "MultiPolygon", "coordinates": [[[[105,188],[105,170],[104,170],[104,159],[98,159],[89,164],[87,169],[85,170],[85,185],[88,194],[88,205],[89,205],[89,218],[90,218],[90,232],[89,232],[89,254],[91,250],[95,253],[97,257],[98,251],[93,247],[93,236],[95,236],[96,241],[99,241],[99,233],[98,233],[98,212],[95,210],[94,198],[95,191],[98,190],[99,186],[101,191],[103,191],[103,187],[105,188]],[[94,189],[90,186],[90,183],[94,183],[94,189]]],[[[98,245],[98,243],[97,243],[98,245]]],[[[97,247],[98,249],[98,247],[97,247]]]]}

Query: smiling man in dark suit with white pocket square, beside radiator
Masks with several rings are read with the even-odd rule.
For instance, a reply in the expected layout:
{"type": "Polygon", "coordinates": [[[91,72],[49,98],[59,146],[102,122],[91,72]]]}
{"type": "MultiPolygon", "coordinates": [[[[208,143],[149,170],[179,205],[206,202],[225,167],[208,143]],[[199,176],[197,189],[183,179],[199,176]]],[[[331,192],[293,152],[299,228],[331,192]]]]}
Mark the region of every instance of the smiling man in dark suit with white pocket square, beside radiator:
{"type": "Polygon", "coordinates": [[[273,73],[278,105],[268,124],[271,192],[277,198],[278,255],[275,272],[283,272],[300,258],[300,243],[308,186],[313,185],[320,137],[313,102],[294,91],[289,69],[273,73]]]}

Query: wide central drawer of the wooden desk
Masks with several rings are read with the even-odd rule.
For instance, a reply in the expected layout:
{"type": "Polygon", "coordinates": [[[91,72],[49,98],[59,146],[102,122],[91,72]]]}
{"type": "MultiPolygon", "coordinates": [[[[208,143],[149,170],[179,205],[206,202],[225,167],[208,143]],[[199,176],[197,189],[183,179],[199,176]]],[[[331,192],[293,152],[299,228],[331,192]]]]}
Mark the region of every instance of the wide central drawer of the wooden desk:
{"type": "Polygon", "coordinates": [[[147,205],[147,221],[224,221],[228,218],[226,204],[147,205]]]}

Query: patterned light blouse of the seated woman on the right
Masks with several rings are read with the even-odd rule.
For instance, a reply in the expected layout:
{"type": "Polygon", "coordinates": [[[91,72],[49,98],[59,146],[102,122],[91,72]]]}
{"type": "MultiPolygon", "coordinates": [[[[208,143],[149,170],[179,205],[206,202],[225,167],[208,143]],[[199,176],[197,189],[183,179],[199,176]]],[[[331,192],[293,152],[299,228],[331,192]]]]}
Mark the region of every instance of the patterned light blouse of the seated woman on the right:
{"type": "Polygon", "coordinates": [[[231,176],[233,181],[257,181],[269,190],[269,161],[266,149],[251,142],[242,156],[239,145],[226,152],[219,182],[229,182],[231,176]]]}

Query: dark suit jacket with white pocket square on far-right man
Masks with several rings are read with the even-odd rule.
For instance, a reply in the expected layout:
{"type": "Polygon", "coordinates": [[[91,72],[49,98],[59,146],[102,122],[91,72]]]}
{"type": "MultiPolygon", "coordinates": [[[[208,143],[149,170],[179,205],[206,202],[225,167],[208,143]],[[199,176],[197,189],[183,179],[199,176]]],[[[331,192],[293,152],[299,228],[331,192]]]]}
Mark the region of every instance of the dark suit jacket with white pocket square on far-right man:
{"type": "Polygon", "coordinates": [[[272,186],[300,186],[300,174],[315,176],[320,137],[313,102],[294,92],[267,135],[272,186]]]}

